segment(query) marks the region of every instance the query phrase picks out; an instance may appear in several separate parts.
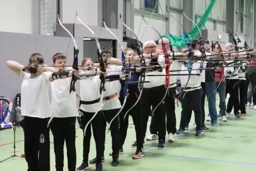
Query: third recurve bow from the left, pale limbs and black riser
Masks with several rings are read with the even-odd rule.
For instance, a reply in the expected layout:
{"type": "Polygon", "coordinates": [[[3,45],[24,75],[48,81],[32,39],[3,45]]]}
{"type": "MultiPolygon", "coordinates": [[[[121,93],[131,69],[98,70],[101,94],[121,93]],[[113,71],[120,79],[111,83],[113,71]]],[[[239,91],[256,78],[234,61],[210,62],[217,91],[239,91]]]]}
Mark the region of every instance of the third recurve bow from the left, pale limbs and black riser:
{"type": "MultiPolygon", "coordinates": [[[[125,53],[124,53],[124,47],[123,47],[123,45],[122,45],[122,42],[118,39],[118,37],[117,37],[111,30],[109,30],[109,28],[107,27],[105,21],[103,21],[103,24],[104,24],[105,28],[108,30],[108,32],[110,32],[110,33],[116,38],[116,40],[118,41],[118,44],[120,44],[120,47],[121,47],[121,50],[122,50],[122,63],[123,63],[123,66],[124,66],[124,71],[125,71],[125,73],[130,74],[129,69],[128,69],[128,67],[126,66],[125,62],[124,62],[124,59],[126,58],[126,56],[125,56],[125,53]]],[[[129,81],[129,80],[125,79],[125,86],[124,86],[124,95],[125,95],[125,97],[124,97],[123,105],[122,105],[121,109],[119,110],[119,112],[118,112],[118,113],[113,117],[113,119],[109,122],[109,127],[110,127],[110,125],[112,124],[112,122],[114,121],[114,119],[122,112],[122,110],[123,110],[123,108],[124,108],[125,102],[126,102],[127,97],[128,97],[128,92],[129,92],[129,90],[126,89],[126,88],[127,88],[126,85],[129,83],[128,81],[129,81]]]]}

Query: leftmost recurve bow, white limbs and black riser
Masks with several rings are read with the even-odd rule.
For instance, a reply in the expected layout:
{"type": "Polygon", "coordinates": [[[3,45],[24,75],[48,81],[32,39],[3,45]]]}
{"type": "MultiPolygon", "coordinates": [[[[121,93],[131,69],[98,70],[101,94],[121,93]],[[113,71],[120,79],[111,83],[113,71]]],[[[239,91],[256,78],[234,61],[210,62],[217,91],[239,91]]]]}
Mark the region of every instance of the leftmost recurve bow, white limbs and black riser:
{"type": "MultiPolygon", "coordinates": [[[[76,17],[76,16],[75,16],[76,17]]],[[[61,22],[61,19],[59,19],[59,15],[58,15],[58,23],[59,23],[59,25],[61,25],[61,27],[70,35],[70,37],[71,37],[71,39],[72,39],[72,41],[73,41],[73,44],[74,44],[74,52],[73,52],[73,65],[72,65],[72,67],[73,67],[73,69],[74,70],[79,70],[79,68],[78,68],[78,54],[79,54],[79,49],[78,49],[78,45],[76,44],[76,41],[75,41],[75,38],[74,38],[74,36],[72,35],[72,33],[69,31],[69,30],[67,30],[65,27],[64,27],[64,25],[62,24],[62,22],[61,22]]],[[[77,80],[79,80],[79,78],[78,77],[76,77],[76,76],[74,76],[74,74],[72,75],[72,79],[71,79],[71,83],[70,83],[70,93],[71,92],[75,92],[75,82],[77,81],[77,80]]],[[[66,80],[64,79],[64,81],[65,81],[65,83],[66,83],[66,80]]],[[[66,84],[67,85],[67,84],[66,84]]],[[[71,98],[71,100],[72,100],[72,98],[71,98]]],[[[75,107],[75,103],[74,103],[74,101],[72,100],[72,103],[73,103],[73,105],[74,105],[74,107],[75,107]]],[[[76,107],[75,107],[76,108],[76,107]]],[[[47,127],[49,127],[49,125],[50,125],[50,122],[52,122],[52,120],[53,120],[53,118],[54,118],[54,115],[52,116],[52,117],[50,117],[50,119],[49,119],[49,122],[48,122],[48,124],[47,124],[47,127]]]]}

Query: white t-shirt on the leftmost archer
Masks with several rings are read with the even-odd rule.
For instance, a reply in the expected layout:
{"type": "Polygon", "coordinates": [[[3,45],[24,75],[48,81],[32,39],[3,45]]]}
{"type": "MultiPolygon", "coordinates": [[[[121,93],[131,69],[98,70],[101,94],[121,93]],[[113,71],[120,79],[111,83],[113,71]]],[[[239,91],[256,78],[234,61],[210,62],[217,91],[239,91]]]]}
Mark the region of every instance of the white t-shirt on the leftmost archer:
{"type": "Polygon", "coordinates": [[[21,83],[21,115],[37,118],[50,117],[50,79],[52,72],[43,72],[37,76],[20,72],[21,83]]]}

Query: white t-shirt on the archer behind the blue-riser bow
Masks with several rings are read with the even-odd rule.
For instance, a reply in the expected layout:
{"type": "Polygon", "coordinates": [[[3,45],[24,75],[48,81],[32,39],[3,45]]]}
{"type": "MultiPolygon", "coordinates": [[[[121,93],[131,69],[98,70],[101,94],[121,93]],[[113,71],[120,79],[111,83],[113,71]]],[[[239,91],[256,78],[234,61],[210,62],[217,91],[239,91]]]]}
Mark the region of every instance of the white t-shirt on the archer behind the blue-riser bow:
{"type": "MultiPolygon", "coordinates": [[[[200,69],[200,61],[199,63],[194,63],[192,65],[192,71],[191,71],[191,74],[197,74],[197,73],[200,73],[199,70],[197,69],[200,69]]],[[[187,66],[185,66],[183,63],[182,63],[182,66],[181,66],[181,70],[187,70],[187,66]]],[[[180,74],[189,74],[188,71],[180,71],[180,74]]],[[[190,76],[190,79],[189,79],[189,75],[181,75],[181,87],[184,88],[184,87],[191,87],[192,89],[188,89],[188,90],[184,90],[184,91],[192,91],[192,90],[195,90],[195,89],[200,89],[201,88],[201,76],[198,76],[198,75],[191,75],[190,76]],[[189,80],[189,82],[187,83],[187,80],[189,80]],[[186,85],[187,83],[187,85],[186,85]]]]}

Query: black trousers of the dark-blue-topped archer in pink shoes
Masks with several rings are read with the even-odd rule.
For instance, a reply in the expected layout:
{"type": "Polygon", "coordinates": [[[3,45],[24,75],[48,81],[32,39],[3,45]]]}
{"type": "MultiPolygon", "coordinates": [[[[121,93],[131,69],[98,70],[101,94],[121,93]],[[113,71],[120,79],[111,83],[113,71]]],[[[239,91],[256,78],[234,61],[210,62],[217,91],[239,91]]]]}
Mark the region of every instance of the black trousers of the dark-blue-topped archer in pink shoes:
{"type": "MultiPolygon", "coordinates": [[[[124,97],[119,98],[121,104],[123,105],[124,97]]],[[[141,101],[130,110],[130,112],[124,118],[125,113],[129,110],[136,102],[138,98],[135,93],[129,93],[129,97],[127,98],[122,113],[119,115],[120,119],[120,149],[123,149],[124,141],[127,135],[127,129],[129,124],[129,115],[132,116],[133,124],[135,126],[136,132],[136,142],[137,142],[137,150],[142,151],[143,149],[143,126],[142,126],[142,112],[141,112],[141,101]]]]}

